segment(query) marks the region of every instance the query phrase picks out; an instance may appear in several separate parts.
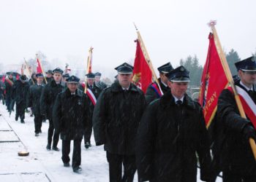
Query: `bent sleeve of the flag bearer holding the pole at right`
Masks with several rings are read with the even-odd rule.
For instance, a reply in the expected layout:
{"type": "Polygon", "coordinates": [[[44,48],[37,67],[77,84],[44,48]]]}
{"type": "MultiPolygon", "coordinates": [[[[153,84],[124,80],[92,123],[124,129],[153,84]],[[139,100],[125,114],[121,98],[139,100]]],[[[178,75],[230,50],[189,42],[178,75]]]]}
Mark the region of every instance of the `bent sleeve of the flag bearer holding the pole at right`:
{"type": "Polygon", "coordinates": [[[230,90],[223,90],[219,95],[217,115],[229,130],[241,132],[249,123],[249,120],[240,116],[236,100],[230,90]]]}

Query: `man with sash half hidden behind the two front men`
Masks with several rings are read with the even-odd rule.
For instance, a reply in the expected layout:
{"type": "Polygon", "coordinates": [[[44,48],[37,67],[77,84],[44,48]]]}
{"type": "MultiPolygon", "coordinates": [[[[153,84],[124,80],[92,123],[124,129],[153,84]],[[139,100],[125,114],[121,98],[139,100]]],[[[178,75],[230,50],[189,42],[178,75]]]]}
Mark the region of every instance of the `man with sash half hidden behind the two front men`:
{"type": "Polygon", "coordinates": [[[147,104],[151,103],[153,100],[156,100],[157,98],[160,98],[162,94],[165,94],[166,92],[170,92],[170,87],[167,86],[167,77],[165,74],[169,73],[171,70],[173,70],[173,66],[170,63],[166,63],[159,68],[157,68],[159,71],[160,78],[158,79],[159,85],[157,82],[151,83],[147,90],[146,90],[146,102],[147,104]],[[159,89],[159,86],[162,90],[159,89]]]}

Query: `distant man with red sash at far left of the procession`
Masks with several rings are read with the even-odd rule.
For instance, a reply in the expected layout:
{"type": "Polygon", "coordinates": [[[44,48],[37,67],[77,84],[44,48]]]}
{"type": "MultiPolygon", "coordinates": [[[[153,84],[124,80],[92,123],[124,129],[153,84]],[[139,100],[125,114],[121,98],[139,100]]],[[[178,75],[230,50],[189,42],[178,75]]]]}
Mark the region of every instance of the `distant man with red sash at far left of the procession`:
{"type": "Polygon", "coordinates": [[[11,106],[11,103],[12,103],[12,90],[13,90],[13,87],[12,85],[14,84],[15,82],[15,79],[14,77],[12,76],[12,72],[10,72],[9,75],[7,75],[5,77],[5,80],[4,80],[4,84],[5,84],[5,103],[7,105],[7,110],[8,111],[12,111],[12,106],[11,106]]]}

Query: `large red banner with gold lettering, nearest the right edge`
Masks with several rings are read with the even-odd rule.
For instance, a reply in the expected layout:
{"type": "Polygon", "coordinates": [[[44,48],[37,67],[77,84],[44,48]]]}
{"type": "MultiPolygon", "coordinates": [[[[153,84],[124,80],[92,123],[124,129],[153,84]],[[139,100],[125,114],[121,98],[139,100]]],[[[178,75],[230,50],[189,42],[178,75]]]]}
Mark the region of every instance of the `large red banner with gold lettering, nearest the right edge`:
{"type": "Polygon", "coordinates": [[[217,111],[219,94],[228,85],[227,77],[214,42],[214,35],[210,33],[208,39],[208,55],[203,68],[199,95],[199,103],[203,107],[207,127],[211,124],[211,120],[217,111]]]}

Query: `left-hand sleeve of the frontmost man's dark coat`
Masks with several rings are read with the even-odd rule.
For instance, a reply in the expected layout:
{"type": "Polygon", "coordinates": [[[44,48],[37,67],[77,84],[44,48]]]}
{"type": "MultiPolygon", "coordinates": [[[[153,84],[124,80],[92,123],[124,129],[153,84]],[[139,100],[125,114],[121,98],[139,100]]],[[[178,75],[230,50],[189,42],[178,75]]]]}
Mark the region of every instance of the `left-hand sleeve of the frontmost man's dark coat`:
{"type": "Polygon", "coordinates": [[[146,108],[140,120],[136,140],[136,164],[139,181],[148,181],[153,173],[152,161],[154,158],[155,140],[155,112],[152,103],[146,108]]]}

